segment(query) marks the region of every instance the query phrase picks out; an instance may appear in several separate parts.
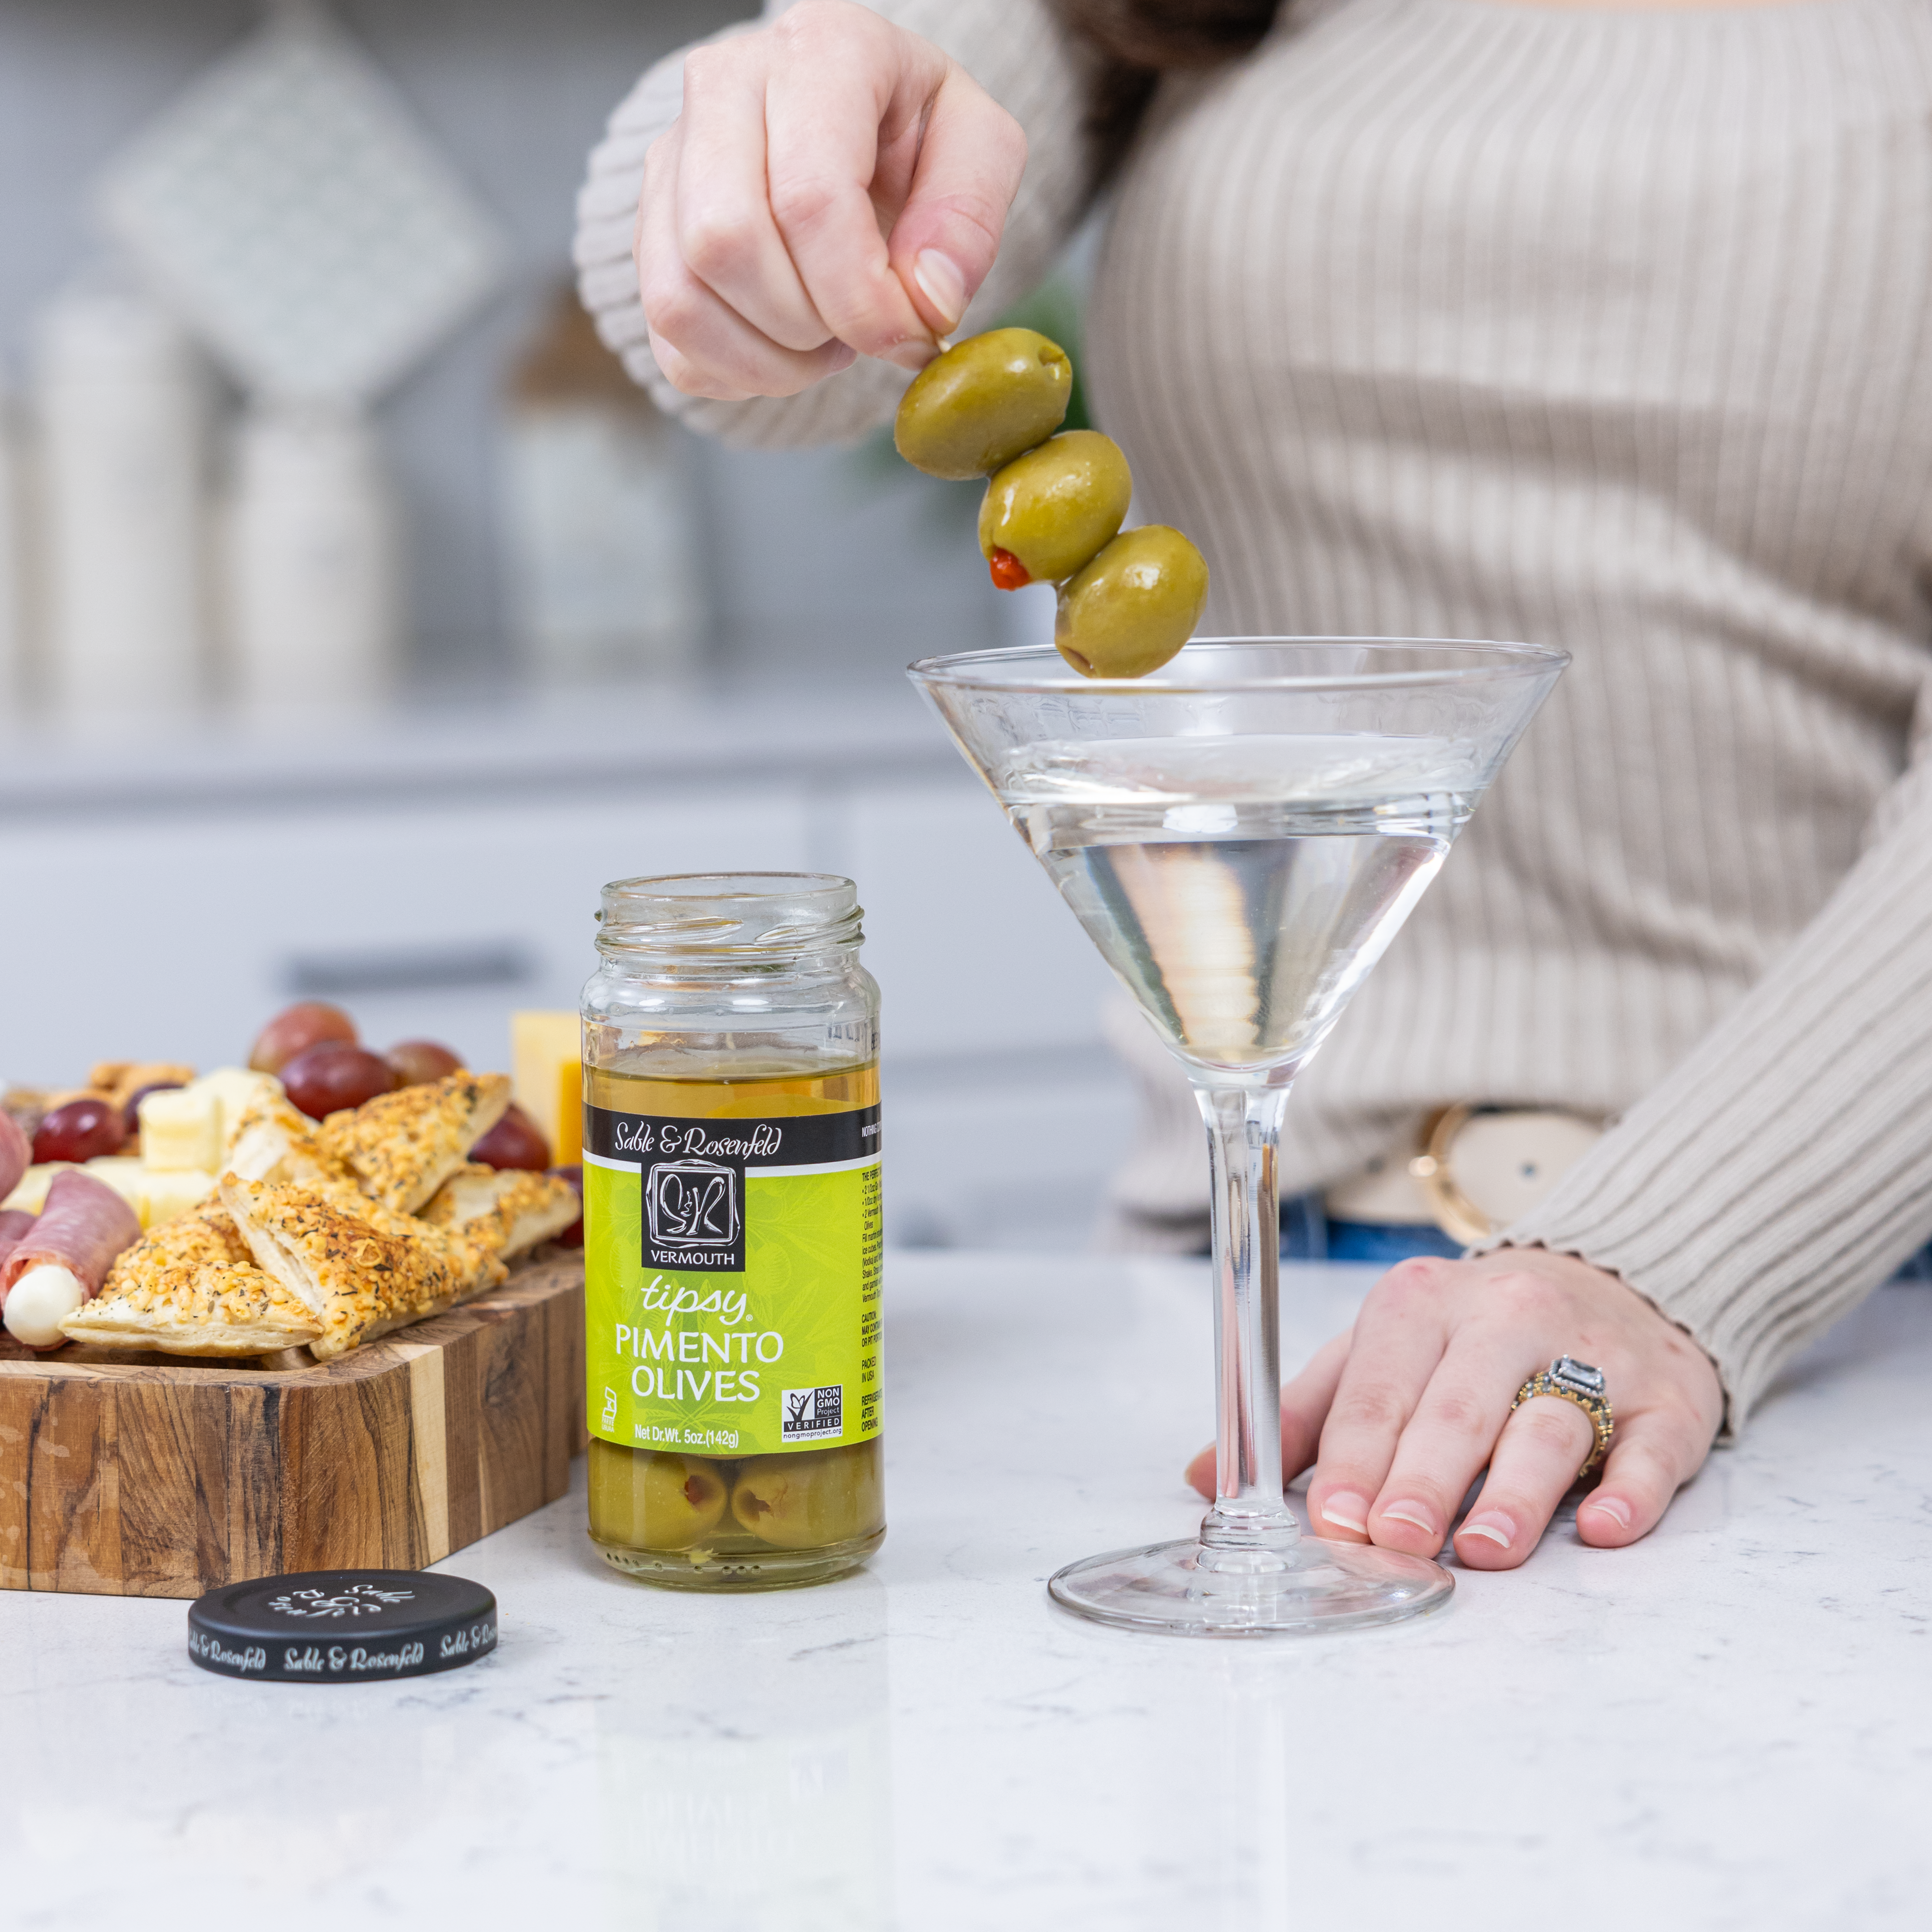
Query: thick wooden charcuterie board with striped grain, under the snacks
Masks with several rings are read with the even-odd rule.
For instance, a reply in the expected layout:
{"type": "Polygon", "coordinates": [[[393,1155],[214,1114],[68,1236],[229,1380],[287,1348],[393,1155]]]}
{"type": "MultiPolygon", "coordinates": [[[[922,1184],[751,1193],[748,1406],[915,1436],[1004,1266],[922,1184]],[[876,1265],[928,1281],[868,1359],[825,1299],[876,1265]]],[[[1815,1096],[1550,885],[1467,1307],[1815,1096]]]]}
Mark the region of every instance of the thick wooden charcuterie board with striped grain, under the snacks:
{"type": "Polygon", "coordinates": [[[334,1362],[0,1360],[0,1588],[201,1596],[421,1569],[551,1503],[583,1443],[583,1260],[334,1362]]]}

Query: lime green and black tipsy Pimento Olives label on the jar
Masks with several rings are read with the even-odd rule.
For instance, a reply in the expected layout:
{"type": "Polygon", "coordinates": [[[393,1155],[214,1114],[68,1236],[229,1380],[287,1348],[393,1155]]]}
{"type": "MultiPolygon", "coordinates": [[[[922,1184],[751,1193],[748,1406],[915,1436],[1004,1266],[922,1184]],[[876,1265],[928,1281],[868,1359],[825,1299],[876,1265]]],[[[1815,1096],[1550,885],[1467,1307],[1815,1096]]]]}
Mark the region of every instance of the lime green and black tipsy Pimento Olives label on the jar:
{"type": "Polygon", "coordinates": [[[879,1109],[583,1109],[593,1435],[773,1455],[879,1434],[879,1109]]]}

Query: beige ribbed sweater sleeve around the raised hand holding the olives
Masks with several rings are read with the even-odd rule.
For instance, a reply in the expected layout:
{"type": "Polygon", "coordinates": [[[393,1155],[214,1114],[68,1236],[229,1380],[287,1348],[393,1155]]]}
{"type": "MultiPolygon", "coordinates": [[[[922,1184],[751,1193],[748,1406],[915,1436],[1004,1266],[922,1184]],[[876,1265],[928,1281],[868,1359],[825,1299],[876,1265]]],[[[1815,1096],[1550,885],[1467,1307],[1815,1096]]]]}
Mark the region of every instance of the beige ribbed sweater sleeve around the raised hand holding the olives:
{"type": "MultiPolygon", "coordinates": [[[[765,17],[782,14],[786,4],[767,0],[765,17]]],[[[1026,129],[1026,178],[1007,218],[999,261],[960,321],[960,332],[972,334],[1047,274],[1092,201],[1084,133],[1092,64],[1047,0],[879,0],[875,12],[943,46],[1026,129]]],[[[726,33],[746,33],[752,25],[726,33]]],[[[657,406],[692,429],[746,448],[856,442],[898,408],[912,381],[904,369],[862,357],[798,396],[750,402],[682,396],[659,375],[630,255],[632,224],[645,149],[676,120],[682,102],[684,50],[643,75],[591,155],[578,195],[574,253],[578,288],[597,332],[657,406]]]]}

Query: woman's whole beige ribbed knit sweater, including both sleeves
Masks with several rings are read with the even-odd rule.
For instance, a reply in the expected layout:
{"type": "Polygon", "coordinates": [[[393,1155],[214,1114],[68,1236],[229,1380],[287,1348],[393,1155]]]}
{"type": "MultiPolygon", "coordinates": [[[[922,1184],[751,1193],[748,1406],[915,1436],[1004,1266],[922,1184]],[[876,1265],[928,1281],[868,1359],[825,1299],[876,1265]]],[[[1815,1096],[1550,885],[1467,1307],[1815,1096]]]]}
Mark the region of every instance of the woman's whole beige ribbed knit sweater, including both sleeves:
{"type": "MultiPolygon", "coordinates": [[[[1086,68],[1039,0],[881,10],[1028,131],[983,327],[1088,203],[1086,68]]],[[[645,381],[676,104],[672,62],[618,110],[578,243],[645,381]]],[[[1113,191],[1086,373],[1208,628],[1577,659],[1302,1074],[1283,1184],[1455,1099],[1621,1115],[1507,1238],[1665,1308],[1735,1426],[1932,1235],[1932,8],[1323,0],[1169,79],[1113,191]]],[[[674,406],[775,446],[904,381],[674,406]]],[[[1202,1200],[1175,1121],[1155,1209],[1202,1200]]]]}

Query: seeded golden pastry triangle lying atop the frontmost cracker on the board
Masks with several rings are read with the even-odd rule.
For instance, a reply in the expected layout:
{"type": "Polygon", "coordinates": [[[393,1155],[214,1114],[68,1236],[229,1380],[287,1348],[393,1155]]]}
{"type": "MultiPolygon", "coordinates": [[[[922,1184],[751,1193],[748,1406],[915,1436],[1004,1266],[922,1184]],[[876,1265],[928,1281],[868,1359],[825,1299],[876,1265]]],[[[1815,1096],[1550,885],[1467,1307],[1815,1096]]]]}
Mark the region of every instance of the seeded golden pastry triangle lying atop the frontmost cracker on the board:
{"type": "Polygon", "coordinates": [[[321,1325],[317,1362],[497,1287],[504,1265],[477,1242],[402,1221],[379,1204],[274,1180],[222,1177],[222,1206],[257,1265],[321,1325]]]}

